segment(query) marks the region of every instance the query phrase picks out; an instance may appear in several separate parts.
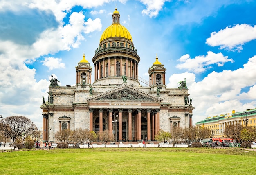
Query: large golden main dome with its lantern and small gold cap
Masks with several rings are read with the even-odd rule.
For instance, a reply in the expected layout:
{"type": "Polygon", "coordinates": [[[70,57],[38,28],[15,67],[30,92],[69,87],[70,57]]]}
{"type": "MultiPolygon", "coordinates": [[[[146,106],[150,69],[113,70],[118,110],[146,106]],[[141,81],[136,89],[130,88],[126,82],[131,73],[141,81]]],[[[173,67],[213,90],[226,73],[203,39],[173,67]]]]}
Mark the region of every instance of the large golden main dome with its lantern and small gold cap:
{"type": "Polygon", "coordinates": [[[117,18],[117,21],[113,20],[113,23],[111,26],[109,26],[108,28],[105,29],[105,31],[103,32],[103,34],[101,35],[101,39],[99,42],[102,42],[104,39],[108,39],[111,37],[123,37],[126,39],[129,39],[132,42],[132,35],[130,34],[130,32],[120,24],[119,22],[119,17],[120,14],[117,11],[117,9],[115,9],[115,11],[113,12],[112,15],[114,18],[117,18]]]}

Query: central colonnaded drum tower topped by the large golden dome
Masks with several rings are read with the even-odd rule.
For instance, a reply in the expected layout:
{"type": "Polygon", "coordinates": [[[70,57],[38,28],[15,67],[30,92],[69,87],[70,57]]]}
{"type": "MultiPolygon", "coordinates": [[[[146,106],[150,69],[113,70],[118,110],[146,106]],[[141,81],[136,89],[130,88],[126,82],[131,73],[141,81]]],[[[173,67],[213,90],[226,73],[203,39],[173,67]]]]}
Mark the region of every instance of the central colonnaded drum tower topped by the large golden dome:
{"type": "Polygon", "coordinates": [[[138,86],[139,61],[132,36],[120,24],[120,14],[115,9],[112,24],[103,31],[92,58],[95,68],[93,85],[122,85],[126,76],[128,85],[138,86]]]}

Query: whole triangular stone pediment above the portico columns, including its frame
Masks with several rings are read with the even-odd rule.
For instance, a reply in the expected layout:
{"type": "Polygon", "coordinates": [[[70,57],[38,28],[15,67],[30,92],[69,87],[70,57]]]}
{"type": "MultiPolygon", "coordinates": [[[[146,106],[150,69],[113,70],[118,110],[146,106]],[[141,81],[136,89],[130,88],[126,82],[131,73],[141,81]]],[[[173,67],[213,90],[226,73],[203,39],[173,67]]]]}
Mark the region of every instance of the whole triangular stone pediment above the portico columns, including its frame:
{"type": "Polygon", "coordinates": [[[148,101],[161,103],[163,99],[138,90],[129,85],[122,85],[97,96],[87,99],[88,101],[148,101]]]}

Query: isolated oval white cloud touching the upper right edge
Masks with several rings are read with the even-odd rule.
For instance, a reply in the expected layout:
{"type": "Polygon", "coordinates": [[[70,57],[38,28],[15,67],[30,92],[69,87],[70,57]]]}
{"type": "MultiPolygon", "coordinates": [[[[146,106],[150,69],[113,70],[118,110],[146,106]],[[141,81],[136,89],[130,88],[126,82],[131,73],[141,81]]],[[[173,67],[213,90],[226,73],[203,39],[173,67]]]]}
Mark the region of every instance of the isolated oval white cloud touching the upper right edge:
{"type": "Polygon", "coordinates": [[[245,43],[254,39],[256,39],[256,25],[237,24],[218,32],[212,32],[211,37],[207,38],[206,44],[220,46],[220,49],[240,51],[245,43]]]}

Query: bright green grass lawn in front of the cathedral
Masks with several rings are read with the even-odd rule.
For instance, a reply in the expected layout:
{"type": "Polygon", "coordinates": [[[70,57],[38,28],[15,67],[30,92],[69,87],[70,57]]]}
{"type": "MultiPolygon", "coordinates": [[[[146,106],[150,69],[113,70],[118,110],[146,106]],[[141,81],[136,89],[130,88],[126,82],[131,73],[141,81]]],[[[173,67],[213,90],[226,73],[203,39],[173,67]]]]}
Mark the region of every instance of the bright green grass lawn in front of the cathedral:
{"type": "Polygon", "coordinates": [[[1,175],[252,175],[242,149],[55,149],[0,153],[1,175]]]}

